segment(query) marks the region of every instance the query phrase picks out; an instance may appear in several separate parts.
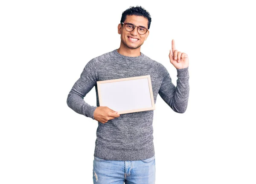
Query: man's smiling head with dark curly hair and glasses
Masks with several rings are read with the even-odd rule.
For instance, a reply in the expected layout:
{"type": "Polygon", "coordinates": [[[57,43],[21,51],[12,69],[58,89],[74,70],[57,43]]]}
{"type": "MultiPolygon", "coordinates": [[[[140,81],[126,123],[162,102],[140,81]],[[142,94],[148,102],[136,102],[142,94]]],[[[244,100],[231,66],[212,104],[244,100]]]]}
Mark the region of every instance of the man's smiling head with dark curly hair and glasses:
{"type": "Polygon", "coordinates": [[[150,24],[151,16],[141,6],[130,7],[125,10],[118,25],[118,34],[121,34],[121,46],[136,49],[143,45],[144,40],[148,37],[150,24]],[[145,34],[143,30],[145,30],[145,34]]]}

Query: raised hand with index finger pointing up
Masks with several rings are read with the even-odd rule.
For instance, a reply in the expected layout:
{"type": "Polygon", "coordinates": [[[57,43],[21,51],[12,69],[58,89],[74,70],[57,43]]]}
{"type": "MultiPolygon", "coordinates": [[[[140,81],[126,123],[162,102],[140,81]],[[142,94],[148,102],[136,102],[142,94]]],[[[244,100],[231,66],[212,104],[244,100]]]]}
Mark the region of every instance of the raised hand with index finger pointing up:
{"type": "Polygon", "coordinates": [[[188,55],[175,50],[174,40],[172,40],[172,50],[170,50],[169,58],[172,65],[177,69],[187,68],[189,66],[188,55]]]}

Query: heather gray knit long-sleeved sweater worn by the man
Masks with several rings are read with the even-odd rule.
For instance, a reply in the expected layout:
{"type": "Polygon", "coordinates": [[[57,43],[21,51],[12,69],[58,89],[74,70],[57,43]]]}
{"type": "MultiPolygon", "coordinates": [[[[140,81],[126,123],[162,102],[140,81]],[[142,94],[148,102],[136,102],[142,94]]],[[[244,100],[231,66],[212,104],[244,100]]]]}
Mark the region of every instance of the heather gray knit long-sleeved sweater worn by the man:
{"type": "MultiPolygon", "coordinates": [[[[170,67],[173,67],[170,63],[170,67]]],[[[189,98],[188,68],[177,69],[177,87],[166,68],[145,56],[128,57],[117,49],[91,59],[84,67],[67,97],[67,105],[75,112],[94,119],[99,107],[97,81],[150,75],[154,103],[157,94],[177,113],[184,113],[189,98]],[[95,86],[96,106],[84,101],[84,96],[95,86]]],[[[157,109],[156,109],[157,110],[157,109]]],[[[154,156],[154,110],[120,114],[105,124],[98,122],[94,156],[106,160],[133,161],[154,156]]]]}

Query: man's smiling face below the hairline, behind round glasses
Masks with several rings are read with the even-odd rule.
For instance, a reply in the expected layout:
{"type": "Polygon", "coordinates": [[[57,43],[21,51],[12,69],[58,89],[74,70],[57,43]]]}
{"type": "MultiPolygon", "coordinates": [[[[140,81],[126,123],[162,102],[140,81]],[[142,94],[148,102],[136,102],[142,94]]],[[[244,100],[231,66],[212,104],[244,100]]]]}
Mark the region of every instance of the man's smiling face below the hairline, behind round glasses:
{"type": "MultiPolygon", "coordinates": [[[[148,28],[148,19],[142,16],[137,15],[127,15],[124,23],[132,23],[137,26],[144,26],[148,28]]],[[[149,30],[141,35],[137,31],[137,27],[133,31],[129,32],[125,30],[124,24],[118,25],[118,34],[121,34],[121,45],[126,46],[127,48],[136,49],[143,45],[144,40],[147,39],[149,30]],[[134,39],[131,39],[134,38],[134,39]]]]}

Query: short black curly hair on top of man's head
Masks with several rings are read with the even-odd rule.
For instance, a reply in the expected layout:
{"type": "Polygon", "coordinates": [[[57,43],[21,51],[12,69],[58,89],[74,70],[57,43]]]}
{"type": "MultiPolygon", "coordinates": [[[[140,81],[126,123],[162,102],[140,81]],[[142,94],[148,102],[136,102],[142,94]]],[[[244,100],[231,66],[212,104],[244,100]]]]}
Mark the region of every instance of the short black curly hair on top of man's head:
{"type": "Polygon", "coordinates": [[[125,10],[124,12],[122,12],[122,17],[121,17],[121,21],[120,23],[123,23],[126,19],[126,15],[137,15],[137,16],[143,16],[145,18],[148,19],[148,29],[150,27],[150,23],[151,23],[151,16],[148,13],[148,11],[146,11],[143,7],[141,6],[130,6],[130,8],[128,8],[127,10],[125,10]]]}

